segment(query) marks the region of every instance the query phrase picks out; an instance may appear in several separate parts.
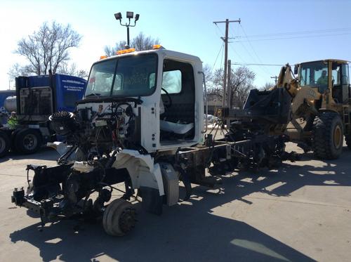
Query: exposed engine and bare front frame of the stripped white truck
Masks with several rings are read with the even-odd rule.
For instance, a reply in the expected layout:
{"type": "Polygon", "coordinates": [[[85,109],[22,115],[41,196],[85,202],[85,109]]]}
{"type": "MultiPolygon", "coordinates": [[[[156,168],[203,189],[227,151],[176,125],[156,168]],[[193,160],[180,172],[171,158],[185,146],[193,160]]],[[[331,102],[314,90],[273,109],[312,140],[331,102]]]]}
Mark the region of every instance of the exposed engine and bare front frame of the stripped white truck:
{"type": "Polygon", "coordinates": [[[135,139],[138,116],[133,110],[140,103],[132,98],[95,103],[93,106],[98,105],[98,110],[81,103],[74,113],[52,114],[51,127],[69,149],[58,159],[58,166],[28,165],[27,172],[34,171],[34,177],[31,181],[28,174],[27,194],[23,189],[15,190],[13,202],[40,214],[43,225],[61,217],[83,214],[98,218],[106,213],[104,203],[110,201],[112,190],[118,190],[112,185],[125,183],[124,195],[119,199],[121,210],[118,209],[124,214],[123,226],[112,230],[112,222],[107,225],[105,221],[104,227],[110,227],[110,235],[124,235],[131,230],[135,211],[126,202],[134,195],[131,179],[127,169],[114,168],[112,164],[125,148],[145,153],[135,139]],[[94,192],[98,192],[95,199],[91,198],[94,192]]]}

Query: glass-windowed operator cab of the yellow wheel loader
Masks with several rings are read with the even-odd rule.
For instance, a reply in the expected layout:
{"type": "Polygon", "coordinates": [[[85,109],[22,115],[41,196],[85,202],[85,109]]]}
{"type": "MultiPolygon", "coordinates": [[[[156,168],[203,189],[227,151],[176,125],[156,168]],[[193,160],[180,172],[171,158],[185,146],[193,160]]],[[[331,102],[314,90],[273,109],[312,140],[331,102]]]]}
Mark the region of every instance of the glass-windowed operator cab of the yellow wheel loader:
{"type": "Polygon", "coordinates": [[[349,68],[345,60],[318,60],[296,65],[300,86],[331,91],[335,103],[347,103],[350,97],[349,68]]]}

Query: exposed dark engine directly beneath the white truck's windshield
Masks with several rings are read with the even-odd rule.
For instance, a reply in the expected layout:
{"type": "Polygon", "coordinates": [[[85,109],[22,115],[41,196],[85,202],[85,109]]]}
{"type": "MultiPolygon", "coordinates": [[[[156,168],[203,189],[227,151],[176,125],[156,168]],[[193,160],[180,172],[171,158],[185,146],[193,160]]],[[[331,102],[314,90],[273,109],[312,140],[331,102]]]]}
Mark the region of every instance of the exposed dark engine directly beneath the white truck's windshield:
{"type": "MultiPolygon", "coordinates": [[[[133,112],[138,100],[133,103],[111,102],[108,105],[98,105],[98,110],[81,104],[77,112],[55,112],[49,118],[51,126],[58,136],[64,138],[71,150],[59,159],[65,159],[76,151],[77,161],[106,161],[112,157],[112,152],[124,148],[143,150],[138,144],[135,122],[137,116],[133,112]]],[[[115,155],[115,154],[114,154],[115,155]]]]}

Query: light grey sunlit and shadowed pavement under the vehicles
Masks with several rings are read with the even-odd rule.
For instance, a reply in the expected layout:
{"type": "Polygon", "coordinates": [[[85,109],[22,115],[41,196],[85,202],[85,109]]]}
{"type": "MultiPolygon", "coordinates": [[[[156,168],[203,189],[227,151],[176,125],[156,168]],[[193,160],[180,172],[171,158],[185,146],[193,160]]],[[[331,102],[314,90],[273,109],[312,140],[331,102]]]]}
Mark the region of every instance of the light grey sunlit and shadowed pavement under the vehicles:
{"type": "Polygon", "coordinates": [[[138,223],[125,237],[68,220],[40,231],[11,194],[25,186],[27,164],[53,165],[58,154],[10,155],[0,159],[0,261],[350,261],[351,151],[343,151],[337,160],[307,153],[277,170],[228,173],[161,216],[136,203],[138,223]]]}

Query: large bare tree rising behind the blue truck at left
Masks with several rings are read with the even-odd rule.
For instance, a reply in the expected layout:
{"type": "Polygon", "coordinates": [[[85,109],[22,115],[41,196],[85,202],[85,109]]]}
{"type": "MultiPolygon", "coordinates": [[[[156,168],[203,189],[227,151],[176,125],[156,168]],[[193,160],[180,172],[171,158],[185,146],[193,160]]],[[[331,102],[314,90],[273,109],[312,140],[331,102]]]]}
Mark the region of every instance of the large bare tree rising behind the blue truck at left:
{"type": "Polygon", "coordinates": [[[25,56],[29,65],[22,71],[27,74],[55,74],[60,65],[69,60],[69,50],[79,46],[81,35],[71,25],[44,22],[38,31],[18,41],[15,53],[25,56]]]}

